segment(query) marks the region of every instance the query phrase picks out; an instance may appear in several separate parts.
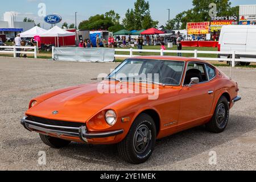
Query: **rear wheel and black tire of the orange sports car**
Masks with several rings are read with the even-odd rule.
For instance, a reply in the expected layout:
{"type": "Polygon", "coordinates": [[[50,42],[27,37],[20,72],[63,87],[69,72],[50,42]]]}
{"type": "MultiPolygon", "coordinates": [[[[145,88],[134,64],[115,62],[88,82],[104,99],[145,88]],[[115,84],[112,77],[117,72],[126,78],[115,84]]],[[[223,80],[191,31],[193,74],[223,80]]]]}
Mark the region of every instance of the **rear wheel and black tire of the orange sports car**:
{"type": "Polygon", "coordinates": [[[229,121],[229,102],[226,97],[221,96],[214,115],[209,123],[206,124],[207,129],[212,133],[222,133],[229,121]]]}

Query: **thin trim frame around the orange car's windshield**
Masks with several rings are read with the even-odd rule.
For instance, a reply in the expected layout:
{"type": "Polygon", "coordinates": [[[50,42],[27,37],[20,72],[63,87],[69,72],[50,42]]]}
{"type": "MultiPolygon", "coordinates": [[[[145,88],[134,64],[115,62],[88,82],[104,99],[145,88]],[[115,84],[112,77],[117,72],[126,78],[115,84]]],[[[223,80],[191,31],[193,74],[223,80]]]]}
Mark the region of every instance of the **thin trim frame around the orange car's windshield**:
{"type": "MultiPolygon", "coordinates": [[[[180,78],[180,82],[179,82],[179,85],[170,85],[170,84],[163,84],[163,85],[165,85],[165,86],[180,86],[181,85],[181,82],[182,82],[182,78],[183,78],[183,75],[184,75],[184,71],[185,71],[185,67],[186,67],[186,61],[177,61],[177,60],[166,60],[166,59],[133,59],[133,58],[129,58],[129,59],[126,59],[126,60],[124,60],[123,61],[123,63],[125,62],[125,61],[127,61],[127,60],[137,60],[137,61],[172,61],[172,62],[180,62],[180,63],[184,63],[184,65],[183,65],[183,71],[182,71],[182,73],[181,73],[181,78],[180,78]]],[[[124,65],[123,65],[124,66],[124,65]]],[[[122,67],[123,67],[122,66],[122,67]]],[[[122,68],[121,67],[121,68],[122,68]]],[[[119,68],[119,69],[121,69],[121,68],[119,68]]],[[[115,68],[116,69],[116,68],[115,68]]],[[[115,71],[115,69],[114,69],[114,71],[115,71]]],[[[119,71],[119,69],[118,69],[118,71],[119,71]]],[[[113,72],[114,72],[113,71],[113,72]]],[[[116,72],[115,72],[116,73],[116,72]]],[[[108,77],[111,75],[111,73],[108,75],[108,77]]],[[[108,78],[108,77],[106,77],[106,78],[108,78]]],[[[105,78],[105,79],[106,79],[105,78]]],[[[108,80],[108,79],[106,79],[106,80],[108,80]]],[[[115,81],[115,80],[110,80],[110,81],[115,81]]],[[[129,81],[123,81],[123,82],[129,82],[129,81]]],[[[134,83],[141,83],[141,82],[134,82],[134,83]]],[[[143,82],[144,84],[148,84],[148,82],[143,82]]],[[[150,82],[150,84],[153,84],[153,83],[151,83],[150,82]]],[[[160,84],[162,84],[162,83],[160,83],[160,84]]]]}

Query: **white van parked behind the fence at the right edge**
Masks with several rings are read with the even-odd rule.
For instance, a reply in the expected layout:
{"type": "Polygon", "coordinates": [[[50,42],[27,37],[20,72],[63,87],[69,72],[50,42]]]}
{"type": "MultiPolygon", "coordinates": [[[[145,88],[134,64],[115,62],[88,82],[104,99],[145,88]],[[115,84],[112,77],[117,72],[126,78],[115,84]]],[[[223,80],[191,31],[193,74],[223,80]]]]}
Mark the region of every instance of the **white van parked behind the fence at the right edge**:
{"type": "MultiPolygon", "coordinates": [[[[218,51],[256,52],[256,27],[251,25],[223,26],[221,29],[218,51]]],[[[218,57],[231,58],[232,55],[219,54],[218,57]]],[[[236,59],[255,59],[256,55],[236,55],[236,59]]],[[[231,64],[228,61],[228,64],[231,64]]],[[[236,61],[236,65],[250,63],[236,61]]]]}

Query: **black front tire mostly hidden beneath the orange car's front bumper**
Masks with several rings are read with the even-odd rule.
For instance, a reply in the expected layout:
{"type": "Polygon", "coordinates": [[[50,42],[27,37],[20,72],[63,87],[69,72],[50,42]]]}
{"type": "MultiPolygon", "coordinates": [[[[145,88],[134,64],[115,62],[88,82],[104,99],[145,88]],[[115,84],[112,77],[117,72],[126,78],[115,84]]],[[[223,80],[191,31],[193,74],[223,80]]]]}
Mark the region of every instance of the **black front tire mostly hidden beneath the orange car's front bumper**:
{"type": "Polygon", "coordinates": [[[49,137],[47,135],[40,134],[40,138],[46,144],[47,146],[50,146],[52,148],[63,148],[68,146],[69,143],[71,143],[68,140],[63,140],[60,138],[54,138],[54,137],[49,137]]]}

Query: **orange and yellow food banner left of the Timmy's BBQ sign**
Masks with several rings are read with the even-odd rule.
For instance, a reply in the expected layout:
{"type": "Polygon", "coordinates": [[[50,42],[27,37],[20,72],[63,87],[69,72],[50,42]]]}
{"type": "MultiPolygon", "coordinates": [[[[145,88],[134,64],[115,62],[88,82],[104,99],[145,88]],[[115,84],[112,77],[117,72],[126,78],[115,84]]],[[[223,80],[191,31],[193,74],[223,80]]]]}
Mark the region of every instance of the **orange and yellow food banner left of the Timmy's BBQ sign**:
{"type": "Polygon", "coordinates": [[[188,34],[209,34],[210,22],[187,23],[188,34]]]}

